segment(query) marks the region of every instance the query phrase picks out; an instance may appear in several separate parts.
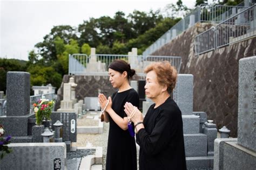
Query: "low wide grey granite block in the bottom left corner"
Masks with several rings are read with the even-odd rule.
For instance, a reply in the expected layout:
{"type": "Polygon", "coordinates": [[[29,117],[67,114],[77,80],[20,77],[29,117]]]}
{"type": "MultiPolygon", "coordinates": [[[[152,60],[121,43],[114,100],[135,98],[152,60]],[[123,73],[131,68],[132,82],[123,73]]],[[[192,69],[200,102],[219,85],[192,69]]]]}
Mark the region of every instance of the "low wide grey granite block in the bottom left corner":
{"type": "Polygon", "coordinates": [[[64,143],[9,144],[12,152],[1,160],[0,169],[66,169],[64,143]]]}

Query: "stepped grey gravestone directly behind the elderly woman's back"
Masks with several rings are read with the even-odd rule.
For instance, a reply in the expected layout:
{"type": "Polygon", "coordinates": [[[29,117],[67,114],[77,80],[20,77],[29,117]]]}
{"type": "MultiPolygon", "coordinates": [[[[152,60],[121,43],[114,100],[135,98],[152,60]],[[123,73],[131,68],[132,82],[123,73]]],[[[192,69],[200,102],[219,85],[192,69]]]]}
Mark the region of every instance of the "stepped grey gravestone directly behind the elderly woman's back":
{"type": "Polygon", "coordinates": [[[176,101],[182,114],[187,168],[212,168],[213,152],[208,152],[208,149],[213,150],[213,141],[217,138],[217,133],[212,131],[217,132],[217,129],[209,127],[204,131],[202,122],[207,121],[207,115],[204,112],[193,112],[192,74],[178,74],[173,100],[176,101]]]}

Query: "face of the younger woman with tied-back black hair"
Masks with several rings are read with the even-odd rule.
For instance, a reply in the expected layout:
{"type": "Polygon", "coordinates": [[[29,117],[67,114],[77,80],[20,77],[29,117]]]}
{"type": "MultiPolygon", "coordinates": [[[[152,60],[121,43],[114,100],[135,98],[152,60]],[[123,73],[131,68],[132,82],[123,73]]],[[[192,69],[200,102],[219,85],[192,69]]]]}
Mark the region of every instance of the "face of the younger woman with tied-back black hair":
{"type": "Polygon", "coordinates": [[[125,75],[126,72],[121,74],[116,70],[109,68],[109,81],[112,84],[113,88],[119,88],[120,86],[122,86],[125,80],[127,80],[125,75]]]}

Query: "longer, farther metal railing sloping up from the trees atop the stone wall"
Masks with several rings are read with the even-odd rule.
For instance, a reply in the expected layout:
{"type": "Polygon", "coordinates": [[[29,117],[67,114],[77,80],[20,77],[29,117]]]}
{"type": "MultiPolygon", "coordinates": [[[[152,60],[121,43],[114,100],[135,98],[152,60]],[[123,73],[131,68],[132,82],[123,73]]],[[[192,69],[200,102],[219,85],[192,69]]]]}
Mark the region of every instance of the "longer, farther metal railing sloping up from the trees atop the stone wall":
{"type": "Polygon", "coordinates": [[[205,5],[201,4],[192,10],[187,16],[181,19],[176,25],[171,27],[163,36],[156,40],[152,45],[146,48],[143,55],[150,55],[160,47],[164,46],[180,33],[198,22],[220,23],[234,16],[236,13],[246,9],[245,6],[227,6],[227,5],[205,5]]]}

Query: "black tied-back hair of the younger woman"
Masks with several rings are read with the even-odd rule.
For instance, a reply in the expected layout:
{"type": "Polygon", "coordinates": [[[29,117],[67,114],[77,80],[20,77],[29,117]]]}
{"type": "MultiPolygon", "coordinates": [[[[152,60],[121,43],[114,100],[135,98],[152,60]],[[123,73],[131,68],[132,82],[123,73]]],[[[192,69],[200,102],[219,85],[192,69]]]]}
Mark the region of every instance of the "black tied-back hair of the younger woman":
{"type": "Polygon", "coordinates": [[[124,60],[114,60],[109,65],[109,68],[123,74],[124,72],[127,72],[127,79],[129,80],[130,77],[132,77],[135,74],[135,70],[131,69],[131,66],[129,63],[127,63],[124,60]]]}

